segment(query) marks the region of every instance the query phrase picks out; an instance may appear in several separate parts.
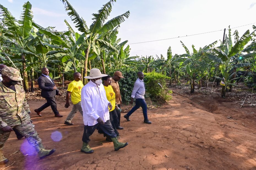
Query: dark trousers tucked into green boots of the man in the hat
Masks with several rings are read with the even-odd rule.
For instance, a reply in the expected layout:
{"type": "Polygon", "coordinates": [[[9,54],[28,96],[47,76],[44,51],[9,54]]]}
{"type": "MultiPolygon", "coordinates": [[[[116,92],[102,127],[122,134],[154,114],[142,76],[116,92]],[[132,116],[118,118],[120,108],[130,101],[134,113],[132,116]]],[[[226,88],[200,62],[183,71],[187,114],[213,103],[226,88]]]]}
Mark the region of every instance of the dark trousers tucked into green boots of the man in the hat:
{"type": "Polygon", "coordinates": [[[89,137],[93,134],[93,132],[96,130],[97,127],[102,129],[104,134],[108,135],[110,138],[116,137],[116,133],[111,126],[110,120],[107,120],[106,122],[104,122],[104,124],[97,123],[94,126],[85,125],[82,141],[85,143],[89,143],[90,141],[89,137]]]}

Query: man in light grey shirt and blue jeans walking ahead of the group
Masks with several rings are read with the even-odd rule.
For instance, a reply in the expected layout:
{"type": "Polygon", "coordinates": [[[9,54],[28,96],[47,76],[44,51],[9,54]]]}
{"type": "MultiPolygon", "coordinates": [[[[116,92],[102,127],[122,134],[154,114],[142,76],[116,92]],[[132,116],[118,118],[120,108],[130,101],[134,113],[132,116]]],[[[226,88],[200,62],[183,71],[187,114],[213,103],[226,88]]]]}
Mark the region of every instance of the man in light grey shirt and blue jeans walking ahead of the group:
{"type": "Polygon", "coordinates": [[[124,115],[124,118],[126,118],[127,121],[130,121],[129,116],[141,106],[144,116],[144,123],[151,124],[151,121],[148,120],[147,104],[144,97],[146,90],[143,78],[143,72],[138,72],[138,79],[134,83],[130,101],[130,104],[132,104],[134,99],[136,99],[135,106],[126,115],[124,115]]]}

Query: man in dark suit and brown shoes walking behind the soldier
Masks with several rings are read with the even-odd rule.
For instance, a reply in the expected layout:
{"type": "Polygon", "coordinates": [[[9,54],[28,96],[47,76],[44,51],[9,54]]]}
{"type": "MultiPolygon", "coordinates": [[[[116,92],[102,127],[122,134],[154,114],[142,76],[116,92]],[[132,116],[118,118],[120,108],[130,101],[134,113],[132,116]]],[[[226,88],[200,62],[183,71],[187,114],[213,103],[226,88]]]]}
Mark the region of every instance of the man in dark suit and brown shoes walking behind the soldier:
{"type": "Polygon", "coordinates": [[[37,83],[39,88],[42,90],[41,96],[47,101],[47,103],[45,103],[43,106],[34,110],[37,115],[42,116],[41,112],[43,111],[43,109],[51,106],[55,117],[63,117],[59,114],[55,101],[55,95],[61,94],[59,93],[59,89],[55,86],[54,81],[49,77],[49,70],[46,67],[42,68],[42,75],[38,78],[37,83]]]}

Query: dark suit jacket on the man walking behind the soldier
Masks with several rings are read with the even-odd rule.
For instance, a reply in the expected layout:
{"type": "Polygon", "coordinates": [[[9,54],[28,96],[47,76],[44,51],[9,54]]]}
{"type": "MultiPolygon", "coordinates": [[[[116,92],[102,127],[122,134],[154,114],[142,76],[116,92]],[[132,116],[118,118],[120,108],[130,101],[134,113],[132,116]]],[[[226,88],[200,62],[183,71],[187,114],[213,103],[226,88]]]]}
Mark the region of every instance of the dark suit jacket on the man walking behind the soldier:
{"type": "Polygon", "coordinates": [[[59,89],[58,88],[53,89],[53,87],[55,86],[55,83],[52,79],[51,79],[51,81],[47,77],[45,77],[44,75],[41,75],[37,79],[38,86],[42,90],[41,91],[41,96],[42,97],[55,97],[55,95],[59,94],[59,89]],[[53,83],[51,83],[51,81],[53,83]]]}

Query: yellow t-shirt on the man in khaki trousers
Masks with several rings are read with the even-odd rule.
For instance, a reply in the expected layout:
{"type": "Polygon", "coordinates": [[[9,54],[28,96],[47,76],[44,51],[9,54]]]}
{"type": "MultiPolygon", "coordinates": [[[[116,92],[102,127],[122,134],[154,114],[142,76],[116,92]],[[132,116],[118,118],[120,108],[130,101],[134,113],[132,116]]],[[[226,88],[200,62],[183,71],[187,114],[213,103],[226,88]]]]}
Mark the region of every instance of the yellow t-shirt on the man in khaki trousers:
{"type": "Polygon", "coordinates": [[[71,101],[73,104],[77,104],[81,101],[81,91],[83,88],[83,82],[81,80],[75,81],[73,80],[71,83],[69,83],[69,86],[67,87],[67,91],[71,92],[71,101]]]}

